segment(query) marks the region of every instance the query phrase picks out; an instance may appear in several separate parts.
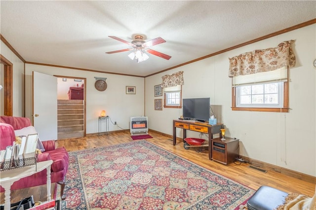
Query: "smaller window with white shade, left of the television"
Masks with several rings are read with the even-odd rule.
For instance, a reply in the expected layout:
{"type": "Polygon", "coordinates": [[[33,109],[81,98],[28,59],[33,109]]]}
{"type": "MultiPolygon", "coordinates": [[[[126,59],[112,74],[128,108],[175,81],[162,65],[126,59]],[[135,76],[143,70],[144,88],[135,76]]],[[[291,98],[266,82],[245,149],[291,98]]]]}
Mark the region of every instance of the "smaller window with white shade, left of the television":
{"type": "Polygon", "coordinates": [[[169,88],[163,88],[164,92],[164,108],[181,108],[182,107],[182,94],[181,85],[169,88]]]}

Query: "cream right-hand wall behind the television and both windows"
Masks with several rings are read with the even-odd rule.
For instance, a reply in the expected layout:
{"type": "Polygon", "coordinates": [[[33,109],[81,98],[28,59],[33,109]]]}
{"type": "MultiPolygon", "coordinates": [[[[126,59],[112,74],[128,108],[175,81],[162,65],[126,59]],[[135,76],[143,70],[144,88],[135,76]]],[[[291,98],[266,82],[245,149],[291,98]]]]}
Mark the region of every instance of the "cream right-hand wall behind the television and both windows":
{"type": "MultiPolygon", "coordinates": [[[[154,110],[154,86],[161,77],[184,71],[183,98],[210,97],[218,110],[219,122],[227,136],[240,139],[240,154],[273,165],[316,176],[316,24],[256,42],[208,59],[200,60],[145,79],[145,114],[149,128],[172,135],[172,120],[182,109],[154,110]],[[285,40],[296,40],[293,49],[297,64],[289,70],[289,113],[232,111],[229,60],[255,49],[276,47],[285,40]]],[[[197,137],[188,132],[188,137],[197,137]]],[[[182,136],[177,129],[177,136],[182,136]]],[[[205,138],[205,137],[204,137],[205,138]]]]}

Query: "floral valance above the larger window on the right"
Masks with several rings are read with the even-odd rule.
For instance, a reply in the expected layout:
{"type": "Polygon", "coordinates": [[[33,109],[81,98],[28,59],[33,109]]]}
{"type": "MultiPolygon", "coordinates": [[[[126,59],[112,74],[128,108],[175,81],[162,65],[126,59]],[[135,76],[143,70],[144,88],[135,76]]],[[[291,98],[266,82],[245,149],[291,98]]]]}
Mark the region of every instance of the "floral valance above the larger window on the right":
{"type": "Polygon", "coordinates": [[[255,74],[295,66],[295,55],[291,48],[294,40],[283,41],[276,48],[255,50],[229,58],[229,77],[255,74]]]}

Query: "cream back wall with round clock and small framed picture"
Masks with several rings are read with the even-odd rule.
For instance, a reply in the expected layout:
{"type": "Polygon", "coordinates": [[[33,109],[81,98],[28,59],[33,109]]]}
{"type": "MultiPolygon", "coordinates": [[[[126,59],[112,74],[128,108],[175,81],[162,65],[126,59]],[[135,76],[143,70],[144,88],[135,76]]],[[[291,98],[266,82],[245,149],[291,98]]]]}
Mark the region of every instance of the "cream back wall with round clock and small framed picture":
{"type": "MultiPolygon", "coordinates": [[[[96,73],[90,71],[73,70],[67,68],[25,64],[26,74],[26,117],[32,116],[32,71],[49,75],[62,75],[86,78],[86,133],[98,132],[98,117],[102,110],[118,126],[129,129],[130,117],[144,116],[144,78],[122,76],[115,74],[96,73]],[[62,72],[62,73],[61,73],[62,72]],[[107,90],[98,91],[94,87],[94,77],[105,77],[107,90]],[[136,94],[126,94],[126,86],[135,86],[136,94]]],[[[77,83],[76,83],[77,84],[77,83]]],[[[110,122],[109,130],[120,130],[110,122]]]]}

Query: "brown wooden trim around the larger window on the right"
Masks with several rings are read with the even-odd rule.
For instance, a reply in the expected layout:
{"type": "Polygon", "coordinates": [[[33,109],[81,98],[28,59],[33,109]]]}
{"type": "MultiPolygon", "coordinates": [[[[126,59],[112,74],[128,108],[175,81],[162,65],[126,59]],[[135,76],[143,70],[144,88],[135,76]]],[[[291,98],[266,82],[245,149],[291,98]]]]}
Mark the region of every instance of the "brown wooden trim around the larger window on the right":
{"type": "Polygon", "coordinates": [[[233,111],[256,111],[256,112],[289,112],[288,108],[288,82],[283,85],[283,107],[281,108],[268,108],[268,107],[237,107],[237,89],[232,87],[232,110],[233,111]]]}

